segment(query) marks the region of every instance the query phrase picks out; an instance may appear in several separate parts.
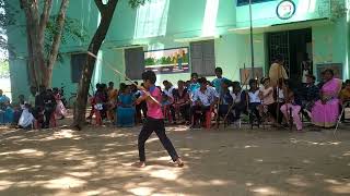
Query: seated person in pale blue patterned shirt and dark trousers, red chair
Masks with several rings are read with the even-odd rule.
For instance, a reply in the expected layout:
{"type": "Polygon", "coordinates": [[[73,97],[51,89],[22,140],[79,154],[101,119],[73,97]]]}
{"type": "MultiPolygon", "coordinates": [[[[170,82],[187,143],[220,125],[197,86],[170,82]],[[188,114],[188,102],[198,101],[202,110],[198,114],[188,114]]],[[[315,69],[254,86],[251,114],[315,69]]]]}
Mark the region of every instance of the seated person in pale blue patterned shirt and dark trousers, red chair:
{"type": "Polygon", "coordinates": [[[206,122],[206,112],[218,102],[219,95],[214,88],[208,87],[208,82],[206,77],[198,79],[200,88],[194,93],[192,106],[190,108],[190,117],[194,118],[191,127],[200,126],[198,120],[201,123],[206,122]]]}

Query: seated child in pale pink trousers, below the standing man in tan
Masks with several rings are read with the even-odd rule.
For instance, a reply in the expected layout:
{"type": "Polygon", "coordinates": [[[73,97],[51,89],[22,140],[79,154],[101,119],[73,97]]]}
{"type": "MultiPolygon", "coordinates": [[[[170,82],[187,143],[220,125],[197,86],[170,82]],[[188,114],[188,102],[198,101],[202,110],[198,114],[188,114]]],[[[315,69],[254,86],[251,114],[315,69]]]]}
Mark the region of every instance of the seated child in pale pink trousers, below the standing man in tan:
{"type": "Polygon", "coordinates": [[[281,107],[281,112],[287,121],[287,123],[291,126],[292,122],[296,125],[296,130],[301,132],[303,130],[303,123],[300,119],[300,110],[301,106],[295,103],[294,91],[291,88],[288,88],[288,94],[285,95],[285,103],[281,107]]]}

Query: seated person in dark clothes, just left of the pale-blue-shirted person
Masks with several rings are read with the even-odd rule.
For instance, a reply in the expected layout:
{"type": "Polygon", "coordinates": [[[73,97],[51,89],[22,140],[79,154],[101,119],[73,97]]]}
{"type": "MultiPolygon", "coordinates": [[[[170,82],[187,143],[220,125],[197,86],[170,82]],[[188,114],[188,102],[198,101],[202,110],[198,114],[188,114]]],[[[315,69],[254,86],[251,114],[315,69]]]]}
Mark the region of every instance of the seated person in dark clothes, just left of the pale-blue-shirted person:
{"type": "Polygon", "coordinates": [[[177,89],[173,90],[173,97],[175,110],[179,111],[182,118],[186,121],[186,123],[189,123],[190,100],[189,95],[187,93],[187,88],[185,88],[184,81],[177,82],[177,89]]]}

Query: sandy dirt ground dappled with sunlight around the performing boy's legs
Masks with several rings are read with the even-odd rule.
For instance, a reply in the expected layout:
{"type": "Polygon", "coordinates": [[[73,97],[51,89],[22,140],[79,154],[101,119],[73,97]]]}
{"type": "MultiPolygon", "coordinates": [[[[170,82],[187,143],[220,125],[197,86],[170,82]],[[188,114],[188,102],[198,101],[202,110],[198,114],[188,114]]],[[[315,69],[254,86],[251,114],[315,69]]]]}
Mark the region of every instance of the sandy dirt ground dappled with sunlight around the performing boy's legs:
{"type": "Polygon", "coordinates": [[[186,162],[155,135],[137,169],[140,127],[0,130],[0,195],[350,195],[350,131],[167,128],[186,162]]]}

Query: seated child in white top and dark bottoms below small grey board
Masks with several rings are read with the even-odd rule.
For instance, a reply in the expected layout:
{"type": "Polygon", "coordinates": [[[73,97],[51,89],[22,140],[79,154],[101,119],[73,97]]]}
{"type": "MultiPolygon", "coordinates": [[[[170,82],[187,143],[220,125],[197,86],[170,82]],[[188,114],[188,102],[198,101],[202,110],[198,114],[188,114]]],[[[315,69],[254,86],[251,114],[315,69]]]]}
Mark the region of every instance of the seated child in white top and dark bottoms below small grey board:
{"type": "Polygon", "coordinates": [[[248,91],[248,110],[249,110],[249,121],[250,124],[254,122],[253,114],[258,120],[258,123],[260,124],[261,118],[259,114],[258,107],[261,105],[261,99],[259,97],[260,90],[258,88],[258,82],[256,79],[249,81],[249,91],[248,91]]]}

